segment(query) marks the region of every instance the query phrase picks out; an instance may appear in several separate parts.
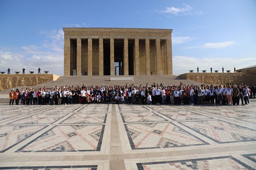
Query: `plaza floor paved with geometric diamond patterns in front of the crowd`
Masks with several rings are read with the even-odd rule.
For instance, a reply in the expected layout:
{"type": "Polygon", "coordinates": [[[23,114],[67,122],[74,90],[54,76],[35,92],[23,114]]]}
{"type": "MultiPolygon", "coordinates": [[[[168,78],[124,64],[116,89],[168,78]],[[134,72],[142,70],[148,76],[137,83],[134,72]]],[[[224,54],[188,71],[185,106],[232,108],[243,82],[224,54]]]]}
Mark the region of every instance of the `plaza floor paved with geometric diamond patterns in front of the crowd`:
{"type": "Polygon", "coordinates": [[[0,105],[0,170],[255,170],[247,106],[0,105]]]}

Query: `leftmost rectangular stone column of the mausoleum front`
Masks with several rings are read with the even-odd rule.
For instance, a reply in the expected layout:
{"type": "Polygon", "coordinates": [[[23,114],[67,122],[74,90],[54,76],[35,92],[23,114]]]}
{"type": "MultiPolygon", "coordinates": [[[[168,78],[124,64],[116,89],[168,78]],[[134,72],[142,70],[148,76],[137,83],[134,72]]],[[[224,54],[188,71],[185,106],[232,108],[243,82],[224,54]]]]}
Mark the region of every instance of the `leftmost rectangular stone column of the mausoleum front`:
{"type": "Polygon", "coordinates": [[[70,39],[64,39],[64,76],[70,76],[70,39]]]}

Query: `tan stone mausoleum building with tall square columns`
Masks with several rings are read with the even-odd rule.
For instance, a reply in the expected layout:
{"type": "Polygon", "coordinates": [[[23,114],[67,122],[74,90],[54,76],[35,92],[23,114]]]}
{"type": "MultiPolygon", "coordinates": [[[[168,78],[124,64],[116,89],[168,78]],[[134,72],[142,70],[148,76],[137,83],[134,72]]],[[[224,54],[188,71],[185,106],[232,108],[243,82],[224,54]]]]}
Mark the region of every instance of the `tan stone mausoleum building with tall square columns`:
{"type": "Polygon", "coordinates": [[[172,75],[172,30],[63,28],[64,75],[172,75]]]}

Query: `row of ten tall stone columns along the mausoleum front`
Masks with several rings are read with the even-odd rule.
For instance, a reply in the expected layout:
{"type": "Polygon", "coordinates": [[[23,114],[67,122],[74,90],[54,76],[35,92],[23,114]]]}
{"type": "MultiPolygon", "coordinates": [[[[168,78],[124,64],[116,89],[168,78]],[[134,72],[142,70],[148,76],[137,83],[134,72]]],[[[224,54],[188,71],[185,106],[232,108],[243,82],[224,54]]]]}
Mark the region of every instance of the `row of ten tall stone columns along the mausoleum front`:
{"type": "MultiPolygon", "coordinates": [[[[171,54],[171,40],[166,41],[167,48],[164,50],[164,56],[166,57],[166,72],[168,75],[172,74],[172,54],[171,54]],[[169,57],[168,57],[169,55],[169,57]],[[168,68],[171,67],[171,68],[168,68]],[[171,72],[170,70],[171,69],[171,72]]],[[[161,45],[160,39],[156,39],[156,74],[161,74],[161,45]]],[[[114,38],[110,38],[110,74],[115,75],[114,70],[114,38]]],[[[145,39],[145,51],[146,51],[146,75],[151,74],[150,70],[150,39],[145,39]]],[[[123,48],[123,67],[124,75],[129,75],[128,68],[128,38],[124,38],[123,48]]],[[[134,75],[140,75],[139,72],[139,39],[135,38],[135,53],[134,53],[134,75]]],[[[93,45],[92,38],[88,38],[88,75],[92,75],[93,65],[93,45]]],[[[70,75],[70,39],[64,39],[64,75],[70,75]]],[[[81,75],[81,38],[77,38],[77,75],[81,75]]],[[[103,74],[103,38],[99,38],[99,75],[103,74]]]]}

